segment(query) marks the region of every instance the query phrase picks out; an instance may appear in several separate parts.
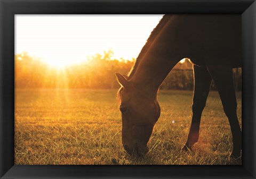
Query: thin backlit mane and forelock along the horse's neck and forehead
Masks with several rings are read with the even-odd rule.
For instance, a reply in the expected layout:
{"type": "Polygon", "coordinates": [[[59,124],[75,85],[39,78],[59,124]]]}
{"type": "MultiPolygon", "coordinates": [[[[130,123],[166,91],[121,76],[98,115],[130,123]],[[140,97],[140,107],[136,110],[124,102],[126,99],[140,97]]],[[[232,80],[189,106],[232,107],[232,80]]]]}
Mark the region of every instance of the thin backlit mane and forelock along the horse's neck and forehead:
{"type": "MultiPolygon", "coordinates": [[[[130,70],[130,72],[127,75],[128,76],[127,80],[130,80],[132,78],[132,76],[134,75],[135,71],[137,70],[137,67],[139,66],[139,63],[140,63],[141,59],[143,58],[143,56],[147,52],[147,49],[150,47],[150,45],[154,41],[157,33],[163,28],[164,24],[167,22],[167,19],[168,19],[167,16],[164,15],[163,18],[156,25],[156,27],[153,29],[153,31],[150,33],[150,36],[148,37],[148,39],[146,41],[146,44],[141,49],[140,54],[138,55],[132,69],[130,70]]],[[[118,100],[120,100],[122,90],[123,90],[123,87],[119,88],[119,90],[117,92],[117,99],[118,100]]]]}

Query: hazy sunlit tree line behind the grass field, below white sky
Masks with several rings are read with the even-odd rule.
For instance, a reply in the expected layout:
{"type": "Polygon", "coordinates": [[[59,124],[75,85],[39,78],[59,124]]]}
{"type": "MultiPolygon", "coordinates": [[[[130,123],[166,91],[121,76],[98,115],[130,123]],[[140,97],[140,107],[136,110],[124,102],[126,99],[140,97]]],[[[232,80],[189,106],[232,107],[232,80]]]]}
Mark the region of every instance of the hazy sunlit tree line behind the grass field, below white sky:
{"type": "MultiPolygon", "coordinates": [[[[135,59],[114,59],[108,50],[95,54],[80,64],[55,69],[39,58],[23,52],[14,56],[15,88],[89,88],[118,89],[115,72],[129,73],[135,59]]],[[[167,75],[161,89],[193,90],[192,65],[186,60],[178,63],[167,75]]],[[[234,70],[237,90],[242,89],[242,70],[234,70]]],[[[212,83],[212,89],[216,89],[212,83]]]]}

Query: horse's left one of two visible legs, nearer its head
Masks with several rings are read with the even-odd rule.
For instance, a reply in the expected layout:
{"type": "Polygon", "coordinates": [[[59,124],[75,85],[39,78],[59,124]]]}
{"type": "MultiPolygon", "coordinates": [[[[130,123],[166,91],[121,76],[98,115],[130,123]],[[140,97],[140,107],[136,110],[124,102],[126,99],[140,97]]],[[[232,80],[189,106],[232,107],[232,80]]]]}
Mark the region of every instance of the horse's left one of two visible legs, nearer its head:
{"type": "Polygon", "coordinates": [[[198,67],[193,65],[194,70],[194,96],[193,96],[193,116],[188,134],[188,139],[183,146],[183,150],[191,150],[194,143],[199,138],[199,126],[201,115],[206,104],[207,96],[209,95],[212,78],[206,67],[198,67]]]}

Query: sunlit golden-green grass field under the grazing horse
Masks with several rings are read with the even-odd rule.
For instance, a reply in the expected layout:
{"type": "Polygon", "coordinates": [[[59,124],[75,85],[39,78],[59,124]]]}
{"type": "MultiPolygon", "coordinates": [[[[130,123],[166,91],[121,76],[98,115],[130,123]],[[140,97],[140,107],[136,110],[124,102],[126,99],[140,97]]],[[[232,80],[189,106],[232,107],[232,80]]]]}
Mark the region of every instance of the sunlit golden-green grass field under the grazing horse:
{"type": "MultiPolygon", "coordinates": [[[[140,159],[122,147],[117,90],[15,91],[15,164],[241,164],[218,92],[211,91],[193,154],[181,152],[191,122],[192,91],[160,91],[161,116],[140,159]],[[174,122],[174,123],[173,123],[174,122]]],[[[237,93],[241,124],[241,93],[237,93]]]]}

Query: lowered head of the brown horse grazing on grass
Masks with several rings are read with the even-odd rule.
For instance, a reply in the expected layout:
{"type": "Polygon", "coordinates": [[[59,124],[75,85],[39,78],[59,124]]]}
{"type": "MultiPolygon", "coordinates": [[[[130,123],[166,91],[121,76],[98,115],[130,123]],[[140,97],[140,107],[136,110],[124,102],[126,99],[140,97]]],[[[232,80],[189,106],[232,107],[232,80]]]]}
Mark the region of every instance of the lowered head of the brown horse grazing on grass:
{"type": "Polygon", "coordinates": [[[151,99],[143,91],[136,88],[127,76],[116,73],[122,113],[122,143],[128,154],[147,154],[150,135],[160,115],[160,107],[156,99],[151,99]]]}

